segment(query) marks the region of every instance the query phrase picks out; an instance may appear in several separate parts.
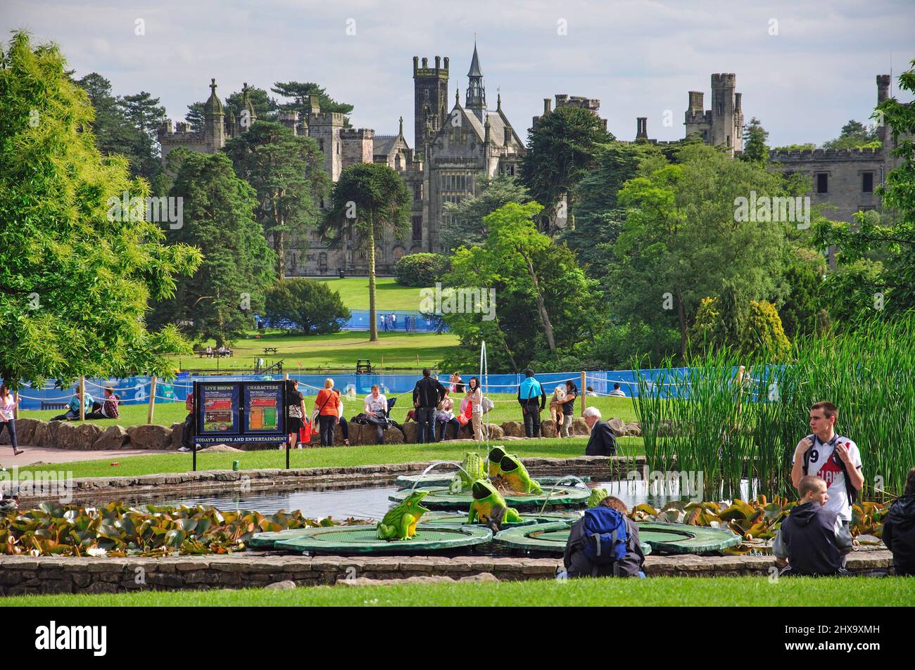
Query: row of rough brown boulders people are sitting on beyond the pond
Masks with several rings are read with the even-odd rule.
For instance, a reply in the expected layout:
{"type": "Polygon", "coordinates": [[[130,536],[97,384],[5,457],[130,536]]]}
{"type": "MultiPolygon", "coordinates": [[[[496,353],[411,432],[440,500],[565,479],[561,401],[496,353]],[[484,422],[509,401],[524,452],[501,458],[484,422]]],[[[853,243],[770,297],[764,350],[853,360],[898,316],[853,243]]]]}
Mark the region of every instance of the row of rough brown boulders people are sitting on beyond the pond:
{"type": "MultiPolygon", "coordinates": [[[[641,435],[638,423],[627,424],[619,419],[611,419],[609,423],[617,436],[630,435],[637,437],[641,435]]],[[[80,424],[70,421],[18,419],[16,420],[16,437],[19,444],[24,446],[56,447],[83,452],[119,449],[168,450],[178,449],[181,446],[183,425],[183,423],[174,423],[169,427],[151,424],[131,426],[130,428],[115,425],[102,428],[92,422],[80,424]]],[[[416,439],[418,427],[419,424],[415,422],[405,423],[403,428],[392,426],[384,431],[384,443],[415,443],[418,441],[416,439]]],[[[553,420],[545,420],[543,427],[544,437],[553,438],[556,436],[553,420]]],[[[505,421],[501,425],[490,423],[489,431],[490,441],[522,439],[524,437],[524,426],[518,421],[505,421]]],[[[448,432],[448,435],[450,434],[448,432]]],[[[577,437],[589,434],[584,419],[578,417],[573,421],[572,434],[577,437]]],[[[462,439],[467,438],[468,433],[461,431],[459,437],[462,439]]],[[[374,442],[374,426],[361,426],[358,423],[350,423],[350,444],[374,444],[374,442]]],[[[9,434],[4,431],[0,435],[0,444],[9,443],[9,434]]],[[[318,434],[313,434],[311,444],[317,446],[319,443],[318,434]]],[[[339,426],[334,437],[334,443],[338,446],[343,445],[343,433],[340,431],[339,426]]],[[[259,446],[256,448],[263,449],[264,447],[259,446]]]]}

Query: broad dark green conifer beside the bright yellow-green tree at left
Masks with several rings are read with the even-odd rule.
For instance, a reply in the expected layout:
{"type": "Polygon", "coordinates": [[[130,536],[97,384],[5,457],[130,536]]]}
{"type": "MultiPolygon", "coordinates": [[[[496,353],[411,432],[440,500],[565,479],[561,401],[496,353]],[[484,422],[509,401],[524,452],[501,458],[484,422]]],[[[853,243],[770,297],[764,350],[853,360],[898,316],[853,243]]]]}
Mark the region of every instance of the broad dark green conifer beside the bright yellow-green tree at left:
{"type": "Polygon", "coordinates": [[[178,282],[172,298],[156,304],[152,321],[178,324],[221,346],[250,329],[253,314],[263,314],[276,257],[254,219],[256,193],[235,175],[229,157],[184,154],[168,193],[183,199],[184,221],[169,235],[201,250],[203,262],[178,282]]]}

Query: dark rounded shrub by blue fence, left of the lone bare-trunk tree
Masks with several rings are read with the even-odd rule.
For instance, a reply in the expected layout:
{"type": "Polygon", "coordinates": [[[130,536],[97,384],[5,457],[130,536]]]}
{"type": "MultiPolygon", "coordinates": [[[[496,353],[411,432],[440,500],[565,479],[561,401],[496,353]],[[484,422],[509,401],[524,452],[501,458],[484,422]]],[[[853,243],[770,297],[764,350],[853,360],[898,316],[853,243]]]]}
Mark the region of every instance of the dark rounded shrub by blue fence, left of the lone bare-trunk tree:
{"type": "Polygon", "coordinates": [[[339,292],[325,282],[309,279],[280,280],[267,292],[267,324],[301,330],[305,335],[337,333],[350,318],[339,292]]]}

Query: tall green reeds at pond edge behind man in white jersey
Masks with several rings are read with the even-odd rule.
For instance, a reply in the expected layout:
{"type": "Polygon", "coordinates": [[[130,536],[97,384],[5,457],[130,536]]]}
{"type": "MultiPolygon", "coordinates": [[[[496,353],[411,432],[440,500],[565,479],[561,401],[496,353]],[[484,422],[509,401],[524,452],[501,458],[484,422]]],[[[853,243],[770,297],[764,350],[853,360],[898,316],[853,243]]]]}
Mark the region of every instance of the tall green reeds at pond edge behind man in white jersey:
{"type": "Polygon", "coordinates": [[[708,499],[793,497],[791,457],[810,406],[831,400],[836,431],[861,451],[863,494],[900,495],[915,465],[915,316],[800,340],[787,365],[773,361],[722,348],[640,375],[635,409],[651,468],[702,472],[708,499]]]}

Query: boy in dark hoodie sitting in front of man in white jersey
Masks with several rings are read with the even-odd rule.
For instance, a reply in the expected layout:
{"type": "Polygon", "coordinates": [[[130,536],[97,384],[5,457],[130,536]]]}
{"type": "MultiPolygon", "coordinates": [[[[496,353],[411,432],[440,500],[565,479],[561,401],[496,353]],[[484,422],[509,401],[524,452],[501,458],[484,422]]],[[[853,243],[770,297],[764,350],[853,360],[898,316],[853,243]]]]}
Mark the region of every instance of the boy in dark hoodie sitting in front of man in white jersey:
{"type": "Polygon", "coordinates": [[[829,501],[825,480],[802,478],[801,503],[781,522],[772,553],[782,575],[847,575],[843,556],[851,551],[850,536],[836,529],[836,512],[829,501]]]}

